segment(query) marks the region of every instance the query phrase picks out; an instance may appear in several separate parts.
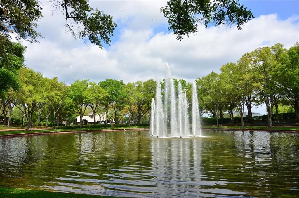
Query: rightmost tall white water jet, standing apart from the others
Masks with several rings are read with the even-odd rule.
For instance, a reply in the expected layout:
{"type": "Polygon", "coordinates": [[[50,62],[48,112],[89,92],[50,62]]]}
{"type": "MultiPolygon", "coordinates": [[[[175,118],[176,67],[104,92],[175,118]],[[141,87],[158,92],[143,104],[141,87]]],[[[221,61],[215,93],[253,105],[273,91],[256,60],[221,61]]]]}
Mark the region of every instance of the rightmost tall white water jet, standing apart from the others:
{"type": "Polygon", "coordinates": [[[196,130],[198,134],[201,135],[199,108],[198,108],[198,98],[195,82],[192,83],[192,132],[193,136],[196,135],[196,130]]]}

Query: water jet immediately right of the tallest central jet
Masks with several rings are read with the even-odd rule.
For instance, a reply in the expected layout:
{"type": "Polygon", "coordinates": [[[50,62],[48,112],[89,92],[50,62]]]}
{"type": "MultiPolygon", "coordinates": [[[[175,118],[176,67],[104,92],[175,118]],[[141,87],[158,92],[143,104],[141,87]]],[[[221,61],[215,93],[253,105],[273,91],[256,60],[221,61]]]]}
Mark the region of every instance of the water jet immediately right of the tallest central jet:
{"type": "Polygon", "coordinates": [[[177,135],[176,119],[176,90],[174,89],[173,79],[170,81],[170,134],[177,135]]]}

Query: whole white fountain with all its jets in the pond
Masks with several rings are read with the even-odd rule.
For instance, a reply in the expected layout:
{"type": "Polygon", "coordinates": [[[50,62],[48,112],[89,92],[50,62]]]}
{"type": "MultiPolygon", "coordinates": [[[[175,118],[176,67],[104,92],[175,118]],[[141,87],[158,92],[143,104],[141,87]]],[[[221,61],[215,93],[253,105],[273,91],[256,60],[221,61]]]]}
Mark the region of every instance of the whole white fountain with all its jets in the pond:
{"type": "Polygon", "coordinates": [[[162,102],[161,82],[156,88],[156,100],[152,99],[150,135],[157,137],[184,137],[201,135],[199,106],[196,92],[196,84],[192,84],[192,131],[189,127],[188,115],[189,103],[186,90],[183,90],[181,82],[178,85],[178,93],[174,87],[170,75],[170,68],[166,63],[166,75],[164,80],[164,103],[162,102]],[[167,129],[170,130],[167,131],[167,129]]]}

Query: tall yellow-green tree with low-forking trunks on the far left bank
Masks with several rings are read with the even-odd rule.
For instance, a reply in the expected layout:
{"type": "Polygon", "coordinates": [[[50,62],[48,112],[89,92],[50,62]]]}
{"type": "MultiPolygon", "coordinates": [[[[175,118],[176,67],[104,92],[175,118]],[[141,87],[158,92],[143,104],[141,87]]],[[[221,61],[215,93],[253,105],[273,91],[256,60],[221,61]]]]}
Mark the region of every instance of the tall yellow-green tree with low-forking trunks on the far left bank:
{"type": "Polygon", "coordinates": [[[37,110],[39,103],[42,102],[43,77],[33,69],[21,68],[19,70],[19,82],[22,88],[16,91],[15,105],[23,112],[27,118],[27,128],[30,130],[33,113],[37,110]]]}

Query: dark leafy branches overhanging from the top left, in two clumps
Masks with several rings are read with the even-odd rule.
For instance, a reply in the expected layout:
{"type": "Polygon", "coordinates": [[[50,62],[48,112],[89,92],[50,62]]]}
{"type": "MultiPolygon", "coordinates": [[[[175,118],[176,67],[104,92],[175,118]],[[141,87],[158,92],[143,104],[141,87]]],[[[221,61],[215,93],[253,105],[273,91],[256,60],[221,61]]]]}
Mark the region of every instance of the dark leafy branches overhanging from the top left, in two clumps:
{"type": "MultiPolygon", "coordinates": [[[[57,10],[65,16],[65,27],[75,39],[85,41],[86,37],[91,43],[103,48],[101,41],[109,44],[110,36],[116,24],[112,16],[89,6],[88,1],[51,0],[53,13],[57,10]]],[[[37,42],[41,33],[35,31],[37,22],[42,17],[42,8],[39,1],[3,0],[0,2],[4,12],[1,14],[1,34],[13,31],[17,39],[26,39],[37,42]]],[[[1,43],[2,45],[2,43],[1,43]]]]}

